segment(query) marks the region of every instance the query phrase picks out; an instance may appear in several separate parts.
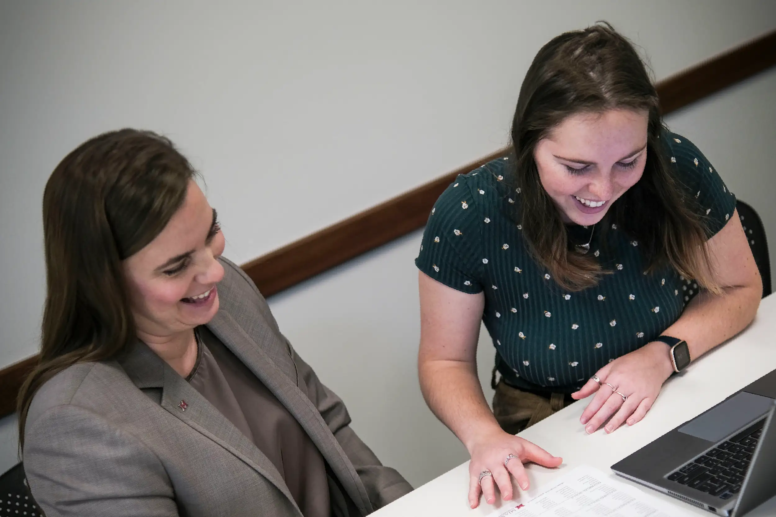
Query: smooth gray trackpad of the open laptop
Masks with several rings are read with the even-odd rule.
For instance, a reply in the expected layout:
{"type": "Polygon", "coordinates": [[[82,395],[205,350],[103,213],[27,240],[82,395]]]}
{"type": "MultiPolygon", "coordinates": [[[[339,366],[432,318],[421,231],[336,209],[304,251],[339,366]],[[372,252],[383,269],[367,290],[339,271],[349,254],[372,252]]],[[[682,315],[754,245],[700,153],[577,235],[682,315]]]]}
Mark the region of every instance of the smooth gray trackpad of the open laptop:
{"type": "Polygon", "coordinates": [[[773,403],[773,398],[741,391],[708,412],[696,416],[678,430],[696,438],[708,439],[709,442],[719,442],[767,413],[773,403]]]}

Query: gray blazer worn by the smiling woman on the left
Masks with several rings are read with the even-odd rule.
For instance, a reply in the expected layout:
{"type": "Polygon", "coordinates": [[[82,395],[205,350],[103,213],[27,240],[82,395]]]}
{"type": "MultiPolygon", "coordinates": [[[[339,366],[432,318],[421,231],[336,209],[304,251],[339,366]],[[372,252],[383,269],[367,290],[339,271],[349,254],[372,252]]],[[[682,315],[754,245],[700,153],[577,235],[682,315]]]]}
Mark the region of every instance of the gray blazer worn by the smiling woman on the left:
{"type": "MultiPolygon", "coordinates": [[[[366,515],[411,491],[356,436],[345,404],[296,355],[253,282],[221,262],[220,309],[208,327],[323,454],[334,515],[366,515]]],[[[24,436],[24,470],[48,517],[302,517],[262,451],[140,341],[120,360],[50,379],[24,436]]]]}

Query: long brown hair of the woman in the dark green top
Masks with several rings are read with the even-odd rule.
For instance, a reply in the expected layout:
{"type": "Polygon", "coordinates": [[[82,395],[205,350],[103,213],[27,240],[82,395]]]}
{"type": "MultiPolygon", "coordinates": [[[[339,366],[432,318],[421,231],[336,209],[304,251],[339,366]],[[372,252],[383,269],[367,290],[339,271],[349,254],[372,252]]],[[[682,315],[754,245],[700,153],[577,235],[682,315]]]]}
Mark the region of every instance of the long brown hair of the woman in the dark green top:
{"type": "Polygon", "coordinates": [[[712,274],[706,229],[667,163],[660,103],[632,43],[607,22],[556,36],[536,54],[520,89],[511,140],[515,160],[511,182],[521,188],[514,213],[523,236],[542,266],[572,291],[591,287],[607,273],[594,257],[570,250],[566,226],[539,179],[534,150],[566,117],[609,109],[646,110],[647,157],[642,178],[611,206],[617,221],[639,241],[650,270],[670,265],[684,277],[719,293],[712,274]]]}

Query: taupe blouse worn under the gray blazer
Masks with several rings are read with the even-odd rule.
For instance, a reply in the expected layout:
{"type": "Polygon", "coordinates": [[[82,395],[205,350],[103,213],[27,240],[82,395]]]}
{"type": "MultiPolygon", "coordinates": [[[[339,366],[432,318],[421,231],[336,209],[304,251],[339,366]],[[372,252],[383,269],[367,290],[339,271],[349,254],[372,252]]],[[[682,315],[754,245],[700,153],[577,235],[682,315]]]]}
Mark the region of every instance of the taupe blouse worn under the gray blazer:
{"type": "Polygon", "coordinates": [[[305,517],[329,517],[326,461],[310,436],[258,377],[206,326],[189,384],[278,469],[305,517]]]}

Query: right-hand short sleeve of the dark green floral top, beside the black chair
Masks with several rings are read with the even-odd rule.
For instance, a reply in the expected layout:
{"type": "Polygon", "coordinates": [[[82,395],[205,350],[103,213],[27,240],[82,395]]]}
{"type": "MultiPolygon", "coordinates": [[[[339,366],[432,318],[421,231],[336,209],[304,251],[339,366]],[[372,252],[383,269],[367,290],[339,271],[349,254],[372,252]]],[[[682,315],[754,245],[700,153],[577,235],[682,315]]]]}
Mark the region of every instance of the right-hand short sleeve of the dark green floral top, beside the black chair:
{"type": "Polygon", "coordinates": [[[666,137],[671,165],[676,167],[677,178],[695,197],[706,235],[711,239],[733,217],[736,196],[694,143],[676,133],[667,133],[666,137]]]}

